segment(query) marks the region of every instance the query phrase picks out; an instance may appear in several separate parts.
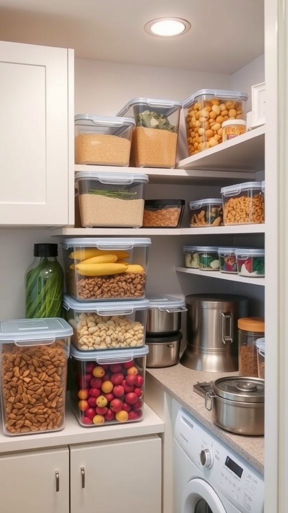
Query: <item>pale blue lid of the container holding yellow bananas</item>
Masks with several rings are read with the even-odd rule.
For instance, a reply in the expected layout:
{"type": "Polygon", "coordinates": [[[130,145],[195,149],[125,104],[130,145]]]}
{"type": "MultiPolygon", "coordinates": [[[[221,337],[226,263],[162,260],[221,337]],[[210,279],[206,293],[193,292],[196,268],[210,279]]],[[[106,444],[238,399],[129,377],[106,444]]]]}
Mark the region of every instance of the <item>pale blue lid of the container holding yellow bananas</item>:
{"type": "Polygon", "coordinates": [[[151,239],[137,239],[137,238],[94,238],[83,237],[74,239],[62,239],[60,241],[63,249],[73,247],[96,247],[98,249],[132,249],[134,246],[149,246],[151,239]]]}

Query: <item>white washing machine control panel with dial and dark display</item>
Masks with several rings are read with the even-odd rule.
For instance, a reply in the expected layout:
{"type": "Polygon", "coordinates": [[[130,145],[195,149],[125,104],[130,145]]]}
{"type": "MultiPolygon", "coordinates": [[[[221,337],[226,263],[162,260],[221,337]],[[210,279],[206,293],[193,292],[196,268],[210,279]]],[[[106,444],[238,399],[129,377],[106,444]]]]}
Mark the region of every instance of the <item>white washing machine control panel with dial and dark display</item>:
{"type": "Polygon", "coordinates": [[[264,508],[264,478],[247,461],[201,425],[186,410],[179,410],[175,440],[197,470],[239,513],[261,513],[264,508]]]}

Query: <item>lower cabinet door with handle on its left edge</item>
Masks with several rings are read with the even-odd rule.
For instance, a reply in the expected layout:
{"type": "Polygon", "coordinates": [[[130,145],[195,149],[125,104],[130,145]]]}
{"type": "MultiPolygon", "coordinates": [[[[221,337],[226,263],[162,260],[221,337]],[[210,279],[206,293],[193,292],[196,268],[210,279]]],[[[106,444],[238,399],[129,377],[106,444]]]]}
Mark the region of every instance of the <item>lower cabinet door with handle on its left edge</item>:
{"type": "Polygon", "coordinates": [[[157,436],[70,447],[70,468],[71,513],[161,513],[157,436]]]}

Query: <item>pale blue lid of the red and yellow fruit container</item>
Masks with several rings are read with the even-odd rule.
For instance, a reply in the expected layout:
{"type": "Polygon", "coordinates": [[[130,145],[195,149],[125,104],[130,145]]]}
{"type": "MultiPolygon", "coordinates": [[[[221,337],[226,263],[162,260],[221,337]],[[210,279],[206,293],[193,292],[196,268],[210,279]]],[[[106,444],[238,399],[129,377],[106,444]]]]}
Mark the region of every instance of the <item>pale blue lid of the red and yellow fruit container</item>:
{"type": "Polygon", "coordinates": [[[95,350],[95,351],[79,351],[76,347],[71,344],[70,356],[81,362],[95,362],[99,364],[112,364],[131,362],[134,358],[146,356],[149,353],[149,347],[147,345],[139,347],[137,349],[129,347],[129,349],[109,349],[95,350]]]}

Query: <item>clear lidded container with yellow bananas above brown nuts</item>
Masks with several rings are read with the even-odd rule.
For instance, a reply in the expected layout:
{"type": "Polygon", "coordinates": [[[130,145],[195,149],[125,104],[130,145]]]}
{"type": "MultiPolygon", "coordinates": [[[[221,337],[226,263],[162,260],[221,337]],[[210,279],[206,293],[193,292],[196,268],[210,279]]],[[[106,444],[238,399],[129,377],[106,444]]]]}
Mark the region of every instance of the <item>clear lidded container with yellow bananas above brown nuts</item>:
{"type": "Polygon", "coordinates": [[[60,241],[66,290],[79,301],[145,299],[151,239],[75,238],[60,241]]]}

